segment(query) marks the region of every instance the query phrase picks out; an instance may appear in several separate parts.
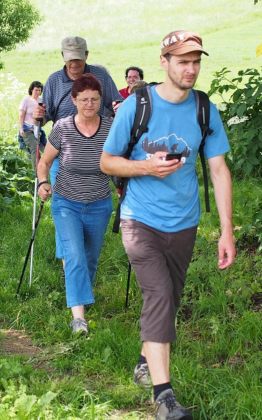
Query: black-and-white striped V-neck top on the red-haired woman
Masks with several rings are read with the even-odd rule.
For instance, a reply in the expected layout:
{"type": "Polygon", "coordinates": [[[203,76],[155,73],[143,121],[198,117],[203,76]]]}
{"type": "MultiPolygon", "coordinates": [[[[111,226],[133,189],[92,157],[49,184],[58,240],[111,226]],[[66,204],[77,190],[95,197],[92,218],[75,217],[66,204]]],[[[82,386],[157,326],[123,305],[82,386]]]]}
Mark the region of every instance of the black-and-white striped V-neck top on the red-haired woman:
{"type": "Polygon", "coordinates": [[[111,118],[101,117],[96,133],[85,137],[75,125],[75,116],[54,124],[48,140],[59,151],[56,193],[79,202],[110,197],[110,176],[101,171],[100,158],[111,125],[111,118]]]}

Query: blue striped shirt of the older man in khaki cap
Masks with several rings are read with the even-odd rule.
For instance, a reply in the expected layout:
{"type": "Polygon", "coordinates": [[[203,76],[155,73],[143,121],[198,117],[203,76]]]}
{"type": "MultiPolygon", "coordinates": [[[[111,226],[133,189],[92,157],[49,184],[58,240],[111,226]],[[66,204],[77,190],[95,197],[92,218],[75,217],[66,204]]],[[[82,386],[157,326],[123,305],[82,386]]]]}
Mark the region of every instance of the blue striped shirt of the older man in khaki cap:
{"type": "MultiPolygon", "coordinates": [[[[92,73],[99,79],[102,86],[103,97],[100,104],[99,114],[108,115],[108,112],[115,115],[112,109],[113,101],[123,101],[119,94],[114,80],[110,74],[101,67],[89,66],[85,64],[84,73],[92,73]]],[[[43,88],[43,103],[46,105],[45,120],[56,123],[60,118],[66,118],[78,113],[78,109],[71,99],[71,89],[75,80],[69,78],[66,74],[66,66],[63,69],[52,73],[43,88]]]]}

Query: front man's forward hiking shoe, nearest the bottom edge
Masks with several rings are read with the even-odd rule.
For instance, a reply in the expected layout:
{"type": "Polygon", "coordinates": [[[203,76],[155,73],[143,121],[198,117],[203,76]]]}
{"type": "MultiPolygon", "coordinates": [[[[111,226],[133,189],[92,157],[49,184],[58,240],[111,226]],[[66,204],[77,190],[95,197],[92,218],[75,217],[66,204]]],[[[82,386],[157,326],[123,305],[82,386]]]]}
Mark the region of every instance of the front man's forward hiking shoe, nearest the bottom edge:
{"type": "Polygon", "coordinates": [[[193,420],[191,412],[177,401],[172,389],[159,394],[154,409],[156,420],[193,420]]]}

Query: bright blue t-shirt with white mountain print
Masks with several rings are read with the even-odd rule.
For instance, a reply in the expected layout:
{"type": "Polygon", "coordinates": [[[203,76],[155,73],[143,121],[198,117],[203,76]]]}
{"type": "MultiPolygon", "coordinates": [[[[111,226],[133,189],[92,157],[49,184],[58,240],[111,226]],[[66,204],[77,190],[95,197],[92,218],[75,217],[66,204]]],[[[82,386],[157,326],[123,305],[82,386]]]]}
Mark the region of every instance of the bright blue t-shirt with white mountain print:
{"type": "MultiPolygon", "coordinates": [[[[150,159],[157,151],[182,152],[184,165],[174,174],[137,176],[129,179],[126,197],[121,204],[121,218],[135,219],[162,232],[178,232],[198,224],[201,206],[196,177],[196,156],[201,144],[201,130],[196,116],[196,100],[191,91],[180,104],[152,92],[152,116],[148,132],[134,146],[131,160],[150,159]]],[[[117,110],[103,150],[122,156],[130,141],[136,114],[136,95],[132,94],[117,110]]],[[[223,124],[214,104],[210,104],[212,135],[205,139],[205,158],[230,150],[223,124]]]]}

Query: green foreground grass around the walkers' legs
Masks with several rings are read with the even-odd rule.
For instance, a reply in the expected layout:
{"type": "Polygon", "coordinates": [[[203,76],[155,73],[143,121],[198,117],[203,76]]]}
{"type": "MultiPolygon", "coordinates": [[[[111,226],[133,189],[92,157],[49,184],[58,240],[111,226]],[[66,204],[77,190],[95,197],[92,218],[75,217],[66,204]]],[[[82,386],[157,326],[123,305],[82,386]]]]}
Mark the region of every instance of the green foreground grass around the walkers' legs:
{"type": "MultiPolygon", "coordinates": [[[[45,413],[43,419],[90,419],[92,407],[94,419],[152,418],[151,395],[132,383],[142,300],[132,274],[129,309],[124,310],[127,260],[119,235],[108,229],[96,304],[87,316],[91,332],[75,339],[68,327],[61,266],[54,258],[49,203],[36,235],[32,286],[27,267],[15,297],[31,235],[31,206],[23,200],[1,214],[0,349],[7,331],[15,329],[25,330],[42,351],[32,358],[2,354],[0,364],[9,368],[1,376],[16,389],[24,384],[26,395],[57,394],[50,403],[54,417],[45,413]]],[[[181,402],[193,407],[195,419],[260,419],[262,323],[252,304],[252,285],[257,281],[261,286],[261,259],[241,246],[233,267],[219,272],[217,233],[213,230],[210,237],[209,230],[201,223],[199,233],[208,246],[196,244],[189,267],[177,314],[171,381],[181,402]]]]}

